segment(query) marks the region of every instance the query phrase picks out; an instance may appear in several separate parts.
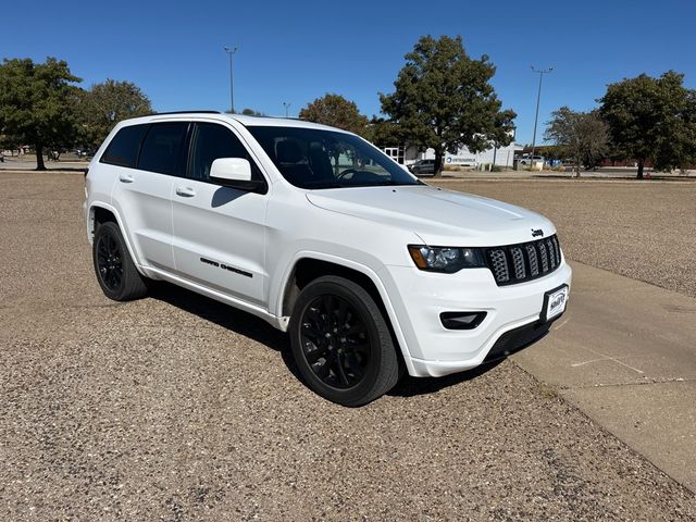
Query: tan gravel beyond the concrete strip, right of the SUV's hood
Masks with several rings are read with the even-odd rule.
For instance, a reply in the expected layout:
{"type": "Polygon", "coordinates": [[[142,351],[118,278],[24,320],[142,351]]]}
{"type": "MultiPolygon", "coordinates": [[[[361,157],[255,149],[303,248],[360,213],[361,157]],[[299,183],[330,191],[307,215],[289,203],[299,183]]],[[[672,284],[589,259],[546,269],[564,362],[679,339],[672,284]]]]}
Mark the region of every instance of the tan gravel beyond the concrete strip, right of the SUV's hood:
{"type": "Polygon", "coordinates": [[[566,254],[696,297],[696,183],[618,181],[435,182],[545,214],[566,254]]]}

